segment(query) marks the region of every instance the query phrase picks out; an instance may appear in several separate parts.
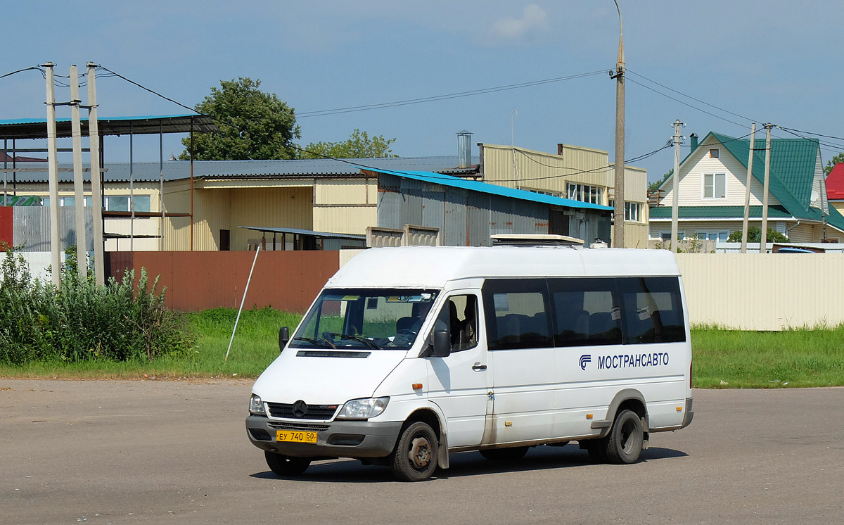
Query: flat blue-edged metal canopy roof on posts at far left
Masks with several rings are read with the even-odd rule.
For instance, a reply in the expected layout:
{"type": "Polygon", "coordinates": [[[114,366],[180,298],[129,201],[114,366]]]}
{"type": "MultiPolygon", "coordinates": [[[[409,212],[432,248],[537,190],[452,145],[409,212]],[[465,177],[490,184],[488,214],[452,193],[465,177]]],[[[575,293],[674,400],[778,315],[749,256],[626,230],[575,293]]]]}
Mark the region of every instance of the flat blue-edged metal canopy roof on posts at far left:
{"type": "MultiPolygon", "coordinates": [[[[88,119],[80,119],[82,134],[88,135],[88,119]]],[[[114,116],[98,118],[99,133],[102,135],[143,135],[147,133],[212,133],[219,128],[208,115],[164,115],[164,116],[114,116]]],[[[58,138],[71,137],[69,118],[56,119],[58,138]]],[[[46,138],[46,120],[21,118],[0,120],[0,139],[46,138]]]]}

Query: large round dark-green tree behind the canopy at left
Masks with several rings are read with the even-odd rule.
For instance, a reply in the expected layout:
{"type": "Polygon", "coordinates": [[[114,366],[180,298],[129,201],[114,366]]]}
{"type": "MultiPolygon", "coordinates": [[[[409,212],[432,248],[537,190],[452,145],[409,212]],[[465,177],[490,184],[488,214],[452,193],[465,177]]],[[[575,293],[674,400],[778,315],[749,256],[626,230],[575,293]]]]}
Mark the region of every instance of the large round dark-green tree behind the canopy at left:
{"type": "MultiPolygon", "coordinates": [[[[299,155],[292,140],[300,128],[292,107],[272,93],[258,89],[260,80],[221,80],[220,88],[197,104],[200,113],[211,116],[219,133],[194,133],[194,160],[295,159],[299,155]]],[[[191,138],[182,138],[181,160],[191,158],[191,138]]]]}

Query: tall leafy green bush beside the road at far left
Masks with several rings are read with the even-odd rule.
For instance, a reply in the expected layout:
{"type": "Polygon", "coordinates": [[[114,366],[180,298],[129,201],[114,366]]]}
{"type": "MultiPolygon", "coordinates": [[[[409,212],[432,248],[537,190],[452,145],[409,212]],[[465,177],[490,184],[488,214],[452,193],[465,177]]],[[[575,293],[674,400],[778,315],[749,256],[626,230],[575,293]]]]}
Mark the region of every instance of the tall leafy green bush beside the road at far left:
{"type": "Polygon", "coordinates": [[[143,268],[137,288],[134,272],[96,286],[78,278],[68,254],[56,290],[31,280],[24,258],[7,246],[0,269],[0,363],[153,360],[192,344],[184,317],[165,307],[158,279],[149,287],[143,268]]]}

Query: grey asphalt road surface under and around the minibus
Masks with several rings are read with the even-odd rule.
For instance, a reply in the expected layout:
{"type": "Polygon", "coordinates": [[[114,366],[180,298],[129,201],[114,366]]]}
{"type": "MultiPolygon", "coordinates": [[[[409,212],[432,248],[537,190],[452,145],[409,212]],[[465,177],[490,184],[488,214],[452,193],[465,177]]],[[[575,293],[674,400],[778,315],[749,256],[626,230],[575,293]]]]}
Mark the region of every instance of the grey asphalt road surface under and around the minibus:
{"type": "Polygon", "coordinates": [[[844,522],[844,388],[696,390],[641,463],[467,452],[408,484],[351,460],[277,478],[246,439],[251,384],[0,379],[0,523],[844,522]]]}

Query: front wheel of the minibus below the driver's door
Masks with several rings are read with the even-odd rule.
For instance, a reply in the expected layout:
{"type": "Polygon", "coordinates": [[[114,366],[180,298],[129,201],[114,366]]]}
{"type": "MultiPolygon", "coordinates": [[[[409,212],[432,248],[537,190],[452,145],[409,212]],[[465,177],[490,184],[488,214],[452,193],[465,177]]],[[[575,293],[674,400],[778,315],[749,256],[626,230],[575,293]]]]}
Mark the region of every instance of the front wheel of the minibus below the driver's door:
{"type": "Polygon", "coordinates": [[[429,425],[421,421],[409,425],[392,452],[392,473],[402,481],[422,481],[434,474],[440,442],[429,425]]]}

